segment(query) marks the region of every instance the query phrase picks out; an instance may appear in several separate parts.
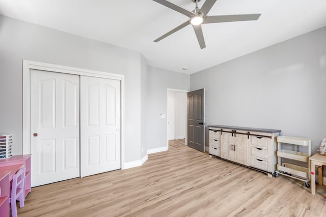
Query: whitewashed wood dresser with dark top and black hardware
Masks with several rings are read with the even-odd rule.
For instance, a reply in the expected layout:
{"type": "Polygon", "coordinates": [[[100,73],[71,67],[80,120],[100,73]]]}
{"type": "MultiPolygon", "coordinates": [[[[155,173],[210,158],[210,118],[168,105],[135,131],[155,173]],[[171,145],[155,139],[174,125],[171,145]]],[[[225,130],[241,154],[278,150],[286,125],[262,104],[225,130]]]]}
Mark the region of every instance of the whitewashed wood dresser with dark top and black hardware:
{"type": "Polygon", "coordinates": [[[255,170],[276,171],[276,137],[281,130],[211,125],[209,154],[255,170]]]}

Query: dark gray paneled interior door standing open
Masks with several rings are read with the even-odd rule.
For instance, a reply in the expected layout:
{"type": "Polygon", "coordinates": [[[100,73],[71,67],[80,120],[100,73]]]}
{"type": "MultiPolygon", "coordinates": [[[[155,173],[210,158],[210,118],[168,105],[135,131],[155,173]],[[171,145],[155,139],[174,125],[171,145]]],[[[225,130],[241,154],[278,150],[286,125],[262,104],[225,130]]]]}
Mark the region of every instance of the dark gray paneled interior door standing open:
{"type": "Polygon", "coordinates": [[[205,152],[204,89],[188,92],[188,146],[205,152]]]}

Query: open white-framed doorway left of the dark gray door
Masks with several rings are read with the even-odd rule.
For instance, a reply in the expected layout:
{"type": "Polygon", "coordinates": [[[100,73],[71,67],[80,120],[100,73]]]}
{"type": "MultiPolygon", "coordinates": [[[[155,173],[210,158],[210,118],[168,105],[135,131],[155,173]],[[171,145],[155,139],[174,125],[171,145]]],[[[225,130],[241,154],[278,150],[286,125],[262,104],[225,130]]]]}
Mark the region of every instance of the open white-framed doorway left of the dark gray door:
{"type": "Polygon", "coordinates": [[[184,140],[187,145],[187,92],[168,89],[168,149],[172,140],[184,140]]]}

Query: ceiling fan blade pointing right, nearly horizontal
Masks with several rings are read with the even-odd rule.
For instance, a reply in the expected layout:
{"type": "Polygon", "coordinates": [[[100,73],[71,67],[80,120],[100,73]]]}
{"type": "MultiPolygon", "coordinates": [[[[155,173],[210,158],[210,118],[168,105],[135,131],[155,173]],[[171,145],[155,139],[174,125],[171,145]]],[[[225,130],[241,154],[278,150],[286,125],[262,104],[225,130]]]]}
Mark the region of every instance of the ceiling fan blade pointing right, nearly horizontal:
{"type": "Polygon", "coordinates": [[[257,20],[260,17],[260,15],[261,14],[239,14],[239,15],[207,16],[204,23],[257,20]]]}

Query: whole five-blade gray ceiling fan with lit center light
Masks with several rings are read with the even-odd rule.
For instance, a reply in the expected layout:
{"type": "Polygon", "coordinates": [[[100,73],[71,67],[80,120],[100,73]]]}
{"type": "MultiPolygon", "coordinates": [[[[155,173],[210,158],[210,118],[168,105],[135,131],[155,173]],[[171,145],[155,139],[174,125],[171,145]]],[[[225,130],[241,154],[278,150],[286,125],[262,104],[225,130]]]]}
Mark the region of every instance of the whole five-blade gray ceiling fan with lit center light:
{"type": "Polygon", "coordinates": [[[182,23],[181,25],[177,26],[170,32],[155,39],[154,42],[158,42],[158,41],[168,37],[169,35],[177,32],[178,30],[181,30],[185,26],[192,24],[201,49],[206,47],[201,24],[257,20],[259,18],[259,16],[261,15],[261,14],[238,14],[238,15],[207,16],[208,12],[213,7],[216,0],[206,0],[201,9],[198,8],[198,2],[200,2],[201,0],[191,0],[192,2],[196,3],[196,8],[193,11],[188,11],[188,10],[181,8],[180,6],[175,5],[167,0],[153,0],[153,1],[157,2],[161,5],[164,5],[168,8],[171,8],[172,10],[175,10],[175,11],[189,17],[189,20],[187,20],[184,23],[182,23]]]}

